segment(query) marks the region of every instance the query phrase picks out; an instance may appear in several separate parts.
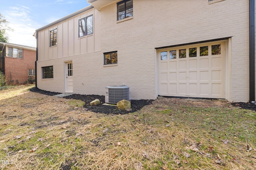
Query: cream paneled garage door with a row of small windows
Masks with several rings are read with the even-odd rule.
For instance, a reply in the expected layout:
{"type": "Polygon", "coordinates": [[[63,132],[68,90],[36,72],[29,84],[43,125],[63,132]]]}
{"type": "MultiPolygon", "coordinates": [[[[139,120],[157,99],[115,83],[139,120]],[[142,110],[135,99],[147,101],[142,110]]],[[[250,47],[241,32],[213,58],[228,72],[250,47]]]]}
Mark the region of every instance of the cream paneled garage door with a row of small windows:
{"type": "Polygon", "coordinates": [[[201,43],[158,54],[158,95],[225,98],[225,43],[201,43]]]}

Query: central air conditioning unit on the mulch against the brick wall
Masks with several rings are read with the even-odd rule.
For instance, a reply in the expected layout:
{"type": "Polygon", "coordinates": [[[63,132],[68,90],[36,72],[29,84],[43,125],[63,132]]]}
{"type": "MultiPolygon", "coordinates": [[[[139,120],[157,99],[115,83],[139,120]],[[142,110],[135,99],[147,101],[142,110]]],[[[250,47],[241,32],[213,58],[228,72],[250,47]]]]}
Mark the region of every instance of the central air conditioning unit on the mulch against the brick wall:
{"type": "Polygon", "coordinates": [[[117,104],[121,100],[130,100],[129,87],[122,86],[107,86],[105,103],[117,104]]]}

